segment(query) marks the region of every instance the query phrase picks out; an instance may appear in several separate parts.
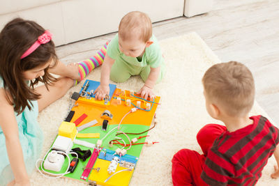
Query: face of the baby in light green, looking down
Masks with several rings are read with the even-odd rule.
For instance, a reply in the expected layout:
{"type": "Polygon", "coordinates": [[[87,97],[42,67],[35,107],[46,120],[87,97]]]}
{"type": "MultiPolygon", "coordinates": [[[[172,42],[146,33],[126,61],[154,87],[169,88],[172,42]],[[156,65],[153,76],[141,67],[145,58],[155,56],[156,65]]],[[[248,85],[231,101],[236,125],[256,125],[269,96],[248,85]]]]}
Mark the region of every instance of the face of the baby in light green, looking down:
{"type": "Polygon", "coordinates": [[[121,40],[119,37],[119,49],[126,56],[138,57],[145,52],[146,42],[138,38],[130,38],[128,40],[121,40]]]}

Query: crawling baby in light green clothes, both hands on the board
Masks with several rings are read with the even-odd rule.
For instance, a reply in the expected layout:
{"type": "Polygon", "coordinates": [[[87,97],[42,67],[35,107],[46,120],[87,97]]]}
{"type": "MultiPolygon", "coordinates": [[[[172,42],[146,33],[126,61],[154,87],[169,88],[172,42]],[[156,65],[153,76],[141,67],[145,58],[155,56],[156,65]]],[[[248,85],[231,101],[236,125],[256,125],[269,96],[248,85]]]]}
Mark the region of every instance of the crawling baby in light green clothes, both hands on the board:
{"type": "Polygon", "coordinates": [[[164,72],[165,62],[152,35],[151,20],[145,13],[130,12],[122,18],[118,34],[107,47],[95,98],[103,100],[110,93],[110,79],[126,82],[133,75],[140,75],[145,82],[138,92],[142,98],[153,98],[153,86],[160,82],[164,72]]]}

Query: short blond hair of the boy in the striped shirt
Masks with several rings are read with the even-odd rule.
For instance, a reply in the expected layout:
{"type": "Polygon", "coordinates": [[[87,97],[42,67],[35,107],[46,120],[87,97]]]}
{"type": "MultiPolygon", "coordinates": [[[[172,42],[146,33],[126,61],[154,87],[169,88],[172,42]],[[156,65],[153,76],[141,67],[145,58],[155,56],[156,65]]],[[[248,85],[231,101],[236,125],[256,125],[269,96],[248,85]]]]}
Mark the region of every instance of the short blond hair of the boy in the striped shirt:
{"type": "Polygon", "coordinates": [[[248,114],[255,98],[252,73],[242,63],[218,63],[207,70],[202,78],[204,91],[229,116],[248,114]]]}

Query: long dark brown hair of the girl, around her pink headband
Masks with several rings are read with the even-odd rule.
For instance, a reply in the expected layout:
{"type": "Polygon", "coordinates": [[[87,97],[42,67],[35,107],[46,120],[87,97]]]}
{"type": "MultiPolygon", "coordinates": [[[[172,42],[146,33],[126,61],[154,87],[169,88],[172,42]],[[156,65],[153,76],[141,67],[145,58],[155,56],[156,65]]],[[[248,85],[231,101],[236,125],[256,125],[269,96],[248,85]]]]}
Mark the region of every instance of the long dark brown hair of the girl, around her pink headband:
{"type": "Polygon", "coordinates": [[[51,67],[45,69],[43,77],[30,81],[30,84],[23,76],[24,71],[43,66],[50,60],[53,60],[53,64],[56,65],[58,61],[52,40],[40,45],[24,59],[20,59],[44,32],[45,29],[36,22],[16,18],[8,22],[0,33],[0,76],[3,79],[6,99],[14,106],[18,114],[22,113],[26,107],[31,109],[33,105],[29,102],[30,100],[40,98],[40,94],[34,91],[34,85],[43,82],[47,87],[56,81],[47,72],[51,67]]]}

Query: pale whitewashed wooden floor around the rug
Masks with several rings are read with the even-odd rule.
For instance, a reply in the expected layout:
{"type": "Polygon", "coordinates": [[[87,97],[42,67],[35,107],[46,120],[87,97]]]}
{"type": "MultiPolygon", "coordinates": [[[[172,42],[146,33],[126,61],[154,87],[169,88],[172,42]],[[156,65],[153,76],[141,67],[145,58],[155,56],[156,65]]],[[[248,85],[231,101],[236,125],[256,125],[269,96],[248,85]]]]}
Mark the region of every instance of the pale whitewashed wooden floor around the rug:
{"type": "MultiPolygon", "coordinates": [[[[252,71],[256,100],[279,126],[279,1],[213,0],[211,12],[153,24],[158,40],[195,31],[221,61],[239,61],[252,71]]],[[[57,47],[64,63],[91,56],[114,33],[57,47]]]]}

